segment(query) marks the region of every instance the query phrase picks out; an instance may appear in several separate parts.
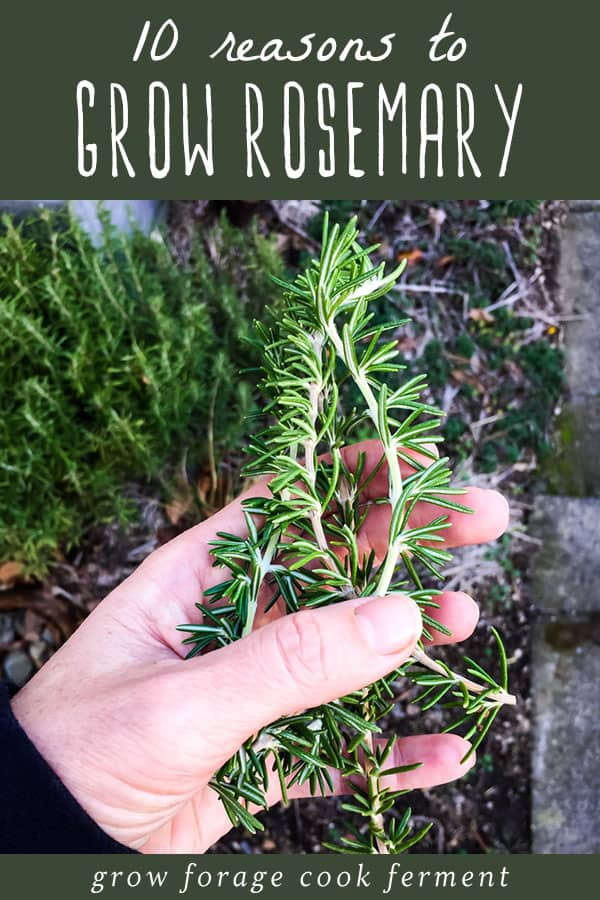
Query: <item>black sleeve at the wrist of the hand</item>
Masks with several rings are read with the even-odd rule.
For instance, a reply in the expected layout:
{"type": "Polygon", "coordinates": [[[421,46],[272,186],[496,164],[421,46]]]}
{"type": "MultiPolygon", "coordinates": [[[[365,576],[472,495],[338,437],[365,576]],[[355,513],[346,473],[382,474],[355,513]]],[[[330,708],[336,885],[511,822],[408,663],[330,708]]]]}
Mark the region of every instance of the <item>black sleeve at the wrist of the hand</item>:
{"type": "Polygon", "coordinates": [[[0,682],[0,852],[133,853],[99,828],[38,753],[0,682]]]}

